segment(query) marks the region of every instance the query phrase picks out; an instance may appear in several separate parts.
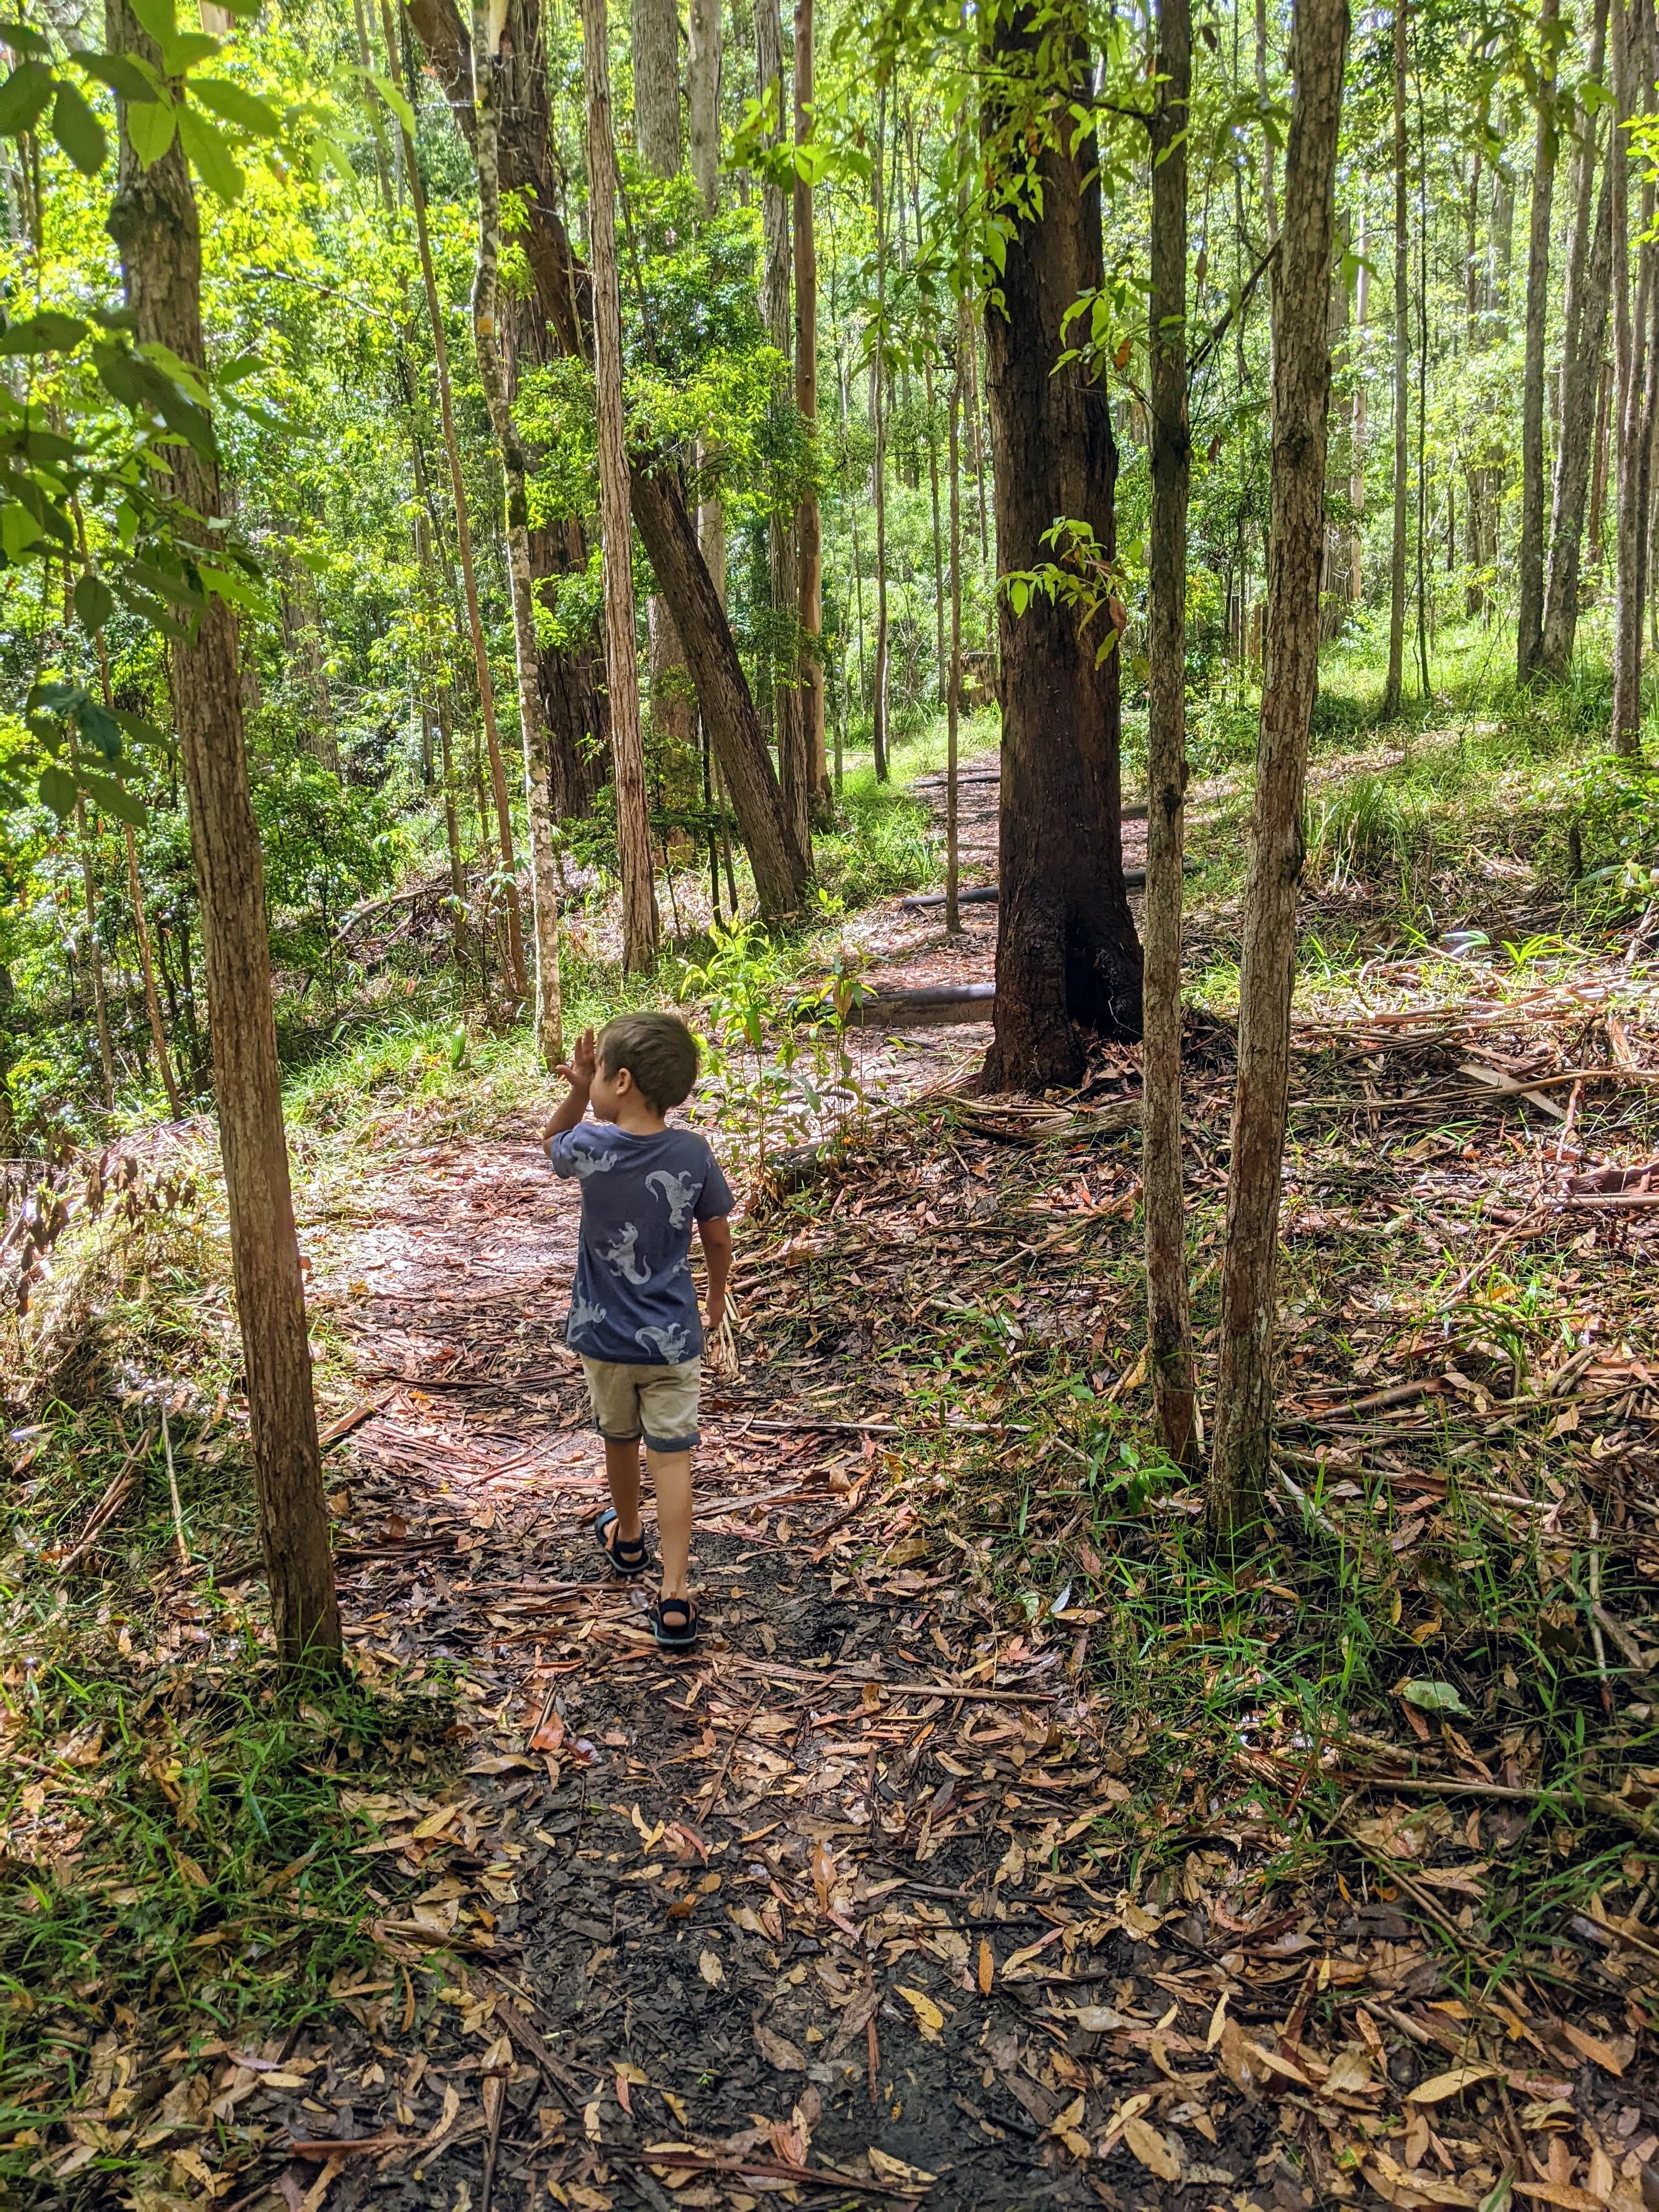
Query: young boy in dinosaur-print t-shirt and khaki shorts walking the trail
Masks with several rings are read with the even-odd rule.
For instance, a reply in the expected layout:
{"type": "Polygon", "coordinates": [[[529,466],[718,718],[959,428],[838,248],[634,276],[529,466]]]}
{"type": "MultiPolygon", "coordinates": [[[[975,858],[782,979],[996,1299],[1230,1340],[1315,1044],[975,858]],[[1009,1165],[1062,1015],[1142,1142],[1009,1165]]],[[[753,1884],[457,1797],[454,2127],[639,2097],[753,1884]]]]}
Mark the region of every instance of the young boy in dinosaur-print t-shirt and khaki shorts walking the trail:
{"type": "Polygon", "coordinates": [[[701,1137],[668,1128],[672,1106],[697,1082],[697,1042],[672,1013],[626,1013],[571,1066],[568,1097],[542,1130],[555,1175],[582,1183],[582,1239],[564,1340],[582,1354],[593,1420],[604,1438],[611,1506],[599,1546],[613,1573],[637,1579],[650,1564],[639,1522],[639,1442],[657,1491],[661,1593],[650,1628],[668,1650],[697,1641],[690,1564],[697,1389],[703,1329],[719,1340],[732,1270],[732,1192],[701,1137]],[[586,1110],[593,1106],[593,1121],[586,1110]],[[703,1245],[708,1305],[701,1323],[690,1276],[690,1232],[703,1245]]]}

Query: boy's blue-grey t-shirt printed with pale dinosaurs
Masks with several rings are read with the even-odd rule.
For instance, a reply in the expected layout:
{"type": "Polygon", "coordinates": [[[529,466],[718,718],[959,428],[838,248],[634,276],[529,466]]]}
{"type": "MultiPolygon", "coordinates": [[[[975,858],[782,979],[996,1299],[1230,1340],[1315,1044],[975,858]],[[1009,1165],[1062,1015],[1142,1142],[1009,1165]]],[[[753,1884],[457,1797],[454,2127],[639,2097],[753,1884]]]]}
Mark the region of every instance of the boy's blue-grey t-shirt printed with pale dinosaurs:
{"type": "Polygon", "coordinates": [[[688,1128],[646,1137],[577,1121],[546,1139],[555,1175],[582,1183],[582,1239],[564,1340],[591,1360],[679,1367],[703,1349],[690,1225],[732,1210],[714,1155],[688,1128]]]}

